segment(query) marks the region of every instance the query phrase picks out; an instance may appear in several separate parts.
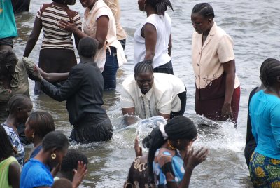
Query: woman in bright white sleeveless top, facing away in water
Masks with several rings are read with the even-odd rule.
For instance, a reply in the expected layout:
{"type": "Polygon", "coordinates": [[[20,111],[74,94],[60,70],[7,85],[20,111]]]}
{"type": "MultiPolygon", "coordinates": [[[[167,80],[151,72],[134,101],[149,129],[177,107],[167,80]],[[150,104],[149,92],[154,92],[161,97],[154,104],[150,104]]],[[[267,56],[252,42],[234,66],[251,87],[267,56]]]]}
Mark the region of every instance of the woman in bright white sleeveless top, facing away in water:
{"type": "Polygon", "coordinates": [[[134,33],[134,63],[153,61],[153,71],[173,74],[171,61],[172,22],[167,6],[169,0],[139,0],[140,11],[147,13],[146,21],[134,33]]]}

